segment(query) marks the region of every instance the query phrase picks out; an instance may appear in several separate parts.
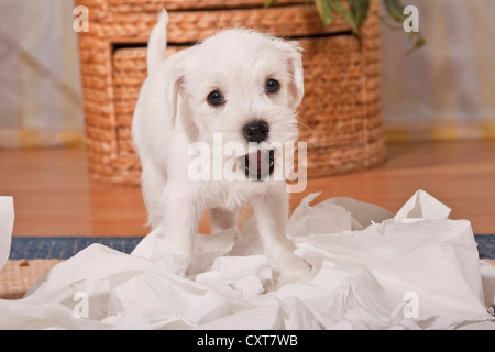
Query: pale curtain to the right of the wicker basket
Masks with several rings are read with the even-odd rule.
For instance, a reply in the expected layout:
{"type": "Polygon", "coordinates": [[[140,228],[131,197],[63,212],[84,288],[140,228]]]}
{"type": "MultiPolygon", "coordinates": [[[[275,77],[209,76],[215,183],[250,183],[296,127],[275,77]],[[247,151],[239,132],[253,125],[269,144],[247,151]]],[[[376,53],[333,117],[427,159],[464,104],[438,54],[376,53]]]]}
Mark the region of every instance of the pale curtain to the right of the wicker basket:
{"type": "Polygon", "coordinates": [[[419,10],[426,46],[383,25],[389,140],[495,138],[495,0],[403,0],[419,10]]]}

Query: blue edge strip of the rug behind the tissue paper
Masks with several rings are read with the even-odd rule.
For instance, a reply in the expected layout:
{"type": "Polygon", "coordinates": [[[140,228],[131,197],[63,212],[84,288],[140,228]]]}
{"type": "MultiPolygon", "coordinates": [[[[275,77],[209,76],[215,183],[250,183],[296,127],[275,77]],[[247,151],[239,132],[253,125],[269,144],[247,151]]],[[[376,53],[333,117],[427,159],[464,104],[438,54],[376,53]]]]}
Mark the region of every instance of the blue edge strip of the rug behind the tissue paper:
{"type": "MultiPolygon", "coordinates": [[[[495,235],[475,235],[481,258],[495,258],[495,235]]],[[[13,238],[11,260],[67,260],[94,243],[131,253],[142,238],[13,238]]]]}

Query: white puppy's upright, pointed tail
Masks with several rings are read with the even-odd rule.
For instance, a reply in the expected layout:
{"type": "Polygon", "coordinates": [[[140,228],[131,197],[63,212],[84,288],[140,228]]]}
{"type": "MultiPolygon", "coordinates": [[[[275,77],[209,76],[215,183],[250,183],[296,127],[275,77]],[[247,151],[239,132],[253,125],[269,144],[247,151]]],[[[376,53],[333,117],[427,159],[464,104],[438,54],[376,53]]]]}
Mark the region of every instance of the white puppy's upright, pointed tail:
{"type": "Polygon", "coordinates": [[[168,13],[164,9],[160,14],[158,23],[153,29],[147,43],[147,75],[153,75],[165,61],[167,48],[168,13]]]}

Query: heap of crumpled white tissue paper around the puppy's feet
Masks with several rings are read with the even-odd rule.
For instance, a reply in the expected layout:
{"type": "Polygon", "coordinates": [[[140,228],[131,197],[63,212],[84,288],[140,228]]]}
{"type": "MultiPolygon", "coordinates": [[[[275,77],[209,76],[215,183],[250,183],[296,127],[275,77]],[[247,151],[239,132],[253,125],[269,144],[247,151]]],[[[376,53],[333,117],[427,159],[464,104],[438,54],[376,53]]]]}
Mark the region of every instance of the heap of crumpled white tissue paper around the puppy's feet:
{"type": "Polygon", "coordinates": [[[157,229],[131,255],[94,244],[0,300],[0,329],[495,329],[495,267],[469,221],[422,190],[395,217],[348,198],[310,206],[318,196],[287,227],[312,278],[271,289],[252,219],[199,235],[191,257],[157,229]]]}

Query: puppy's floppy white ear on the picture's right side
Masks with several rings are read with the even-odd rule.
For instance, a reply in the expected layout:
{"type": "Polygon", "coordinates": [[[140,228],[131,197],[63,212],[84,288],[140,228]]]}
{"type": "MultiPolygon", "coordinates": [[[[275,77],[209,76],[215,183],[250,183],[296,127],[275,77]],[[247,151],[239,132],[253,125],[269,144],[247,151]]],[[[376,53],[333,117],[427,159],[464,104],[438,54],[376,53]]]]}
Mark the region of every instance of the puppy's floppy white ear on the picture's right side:
{"type": "Polygon", "coordinates": [[[292,79],[288,86],[289,105],[292,109],[297,109],[305,95],[305,79],[302,73],[302,47],[298,42],[278,40],[278,45],[285,52],[287,70],[292,79]]]}

